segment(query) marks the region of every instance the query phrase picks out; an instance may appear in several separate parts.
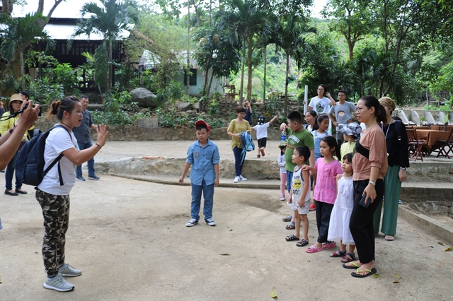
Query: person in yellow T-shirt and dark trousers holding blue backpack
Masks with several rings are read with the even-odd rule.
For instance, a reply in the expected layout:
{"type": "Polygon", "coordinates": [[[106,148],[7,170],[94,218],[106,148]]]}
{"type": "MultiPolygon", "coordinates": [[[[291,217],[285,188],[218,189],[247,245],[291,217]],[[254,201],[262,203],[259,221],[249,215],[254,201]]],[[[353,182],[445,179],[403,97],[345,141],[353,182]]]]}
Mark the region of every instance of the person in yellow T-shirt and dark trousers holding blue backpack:
{"type": "Polygon", "coordinates": [[[248,134],[251,133],[250,124],[248,124],[247,120],[243,119],[244,117],[246,117],[246,108],[242,106],[236,107],[236,114],[238,115],[238,117],[231,120],[228,129],[226,130],[226,134],[228,134],[228,136],[231,136],[231,148],[233,149],[234,153],[234,171],[236,172],[236,177],[234,177],[233,181],[234,183],[247,181],[247,178],[242,177],[241,175],[243,167],[243,162],[241,164],[241,133],[243,131],[248,131],[248,134]]]}

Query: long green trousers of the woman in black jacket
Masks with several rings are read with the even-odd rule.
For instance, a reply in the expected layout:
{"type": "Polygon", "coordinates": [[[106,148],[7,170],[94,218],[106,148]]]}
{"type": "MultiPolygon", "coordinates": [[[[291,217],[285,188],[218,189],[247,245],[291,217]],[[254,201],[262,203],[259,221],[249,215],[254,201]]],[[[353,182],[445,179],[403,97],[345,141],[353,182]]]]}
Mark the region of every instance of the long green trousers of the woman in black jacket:
{"type": "Polygon", "coordinates": [[[398,177],[399,166],[389,166],[384,178],[384,201],[376,209],[373,218],[374,233],[379,232],[381,221],[381,208],[384,203],[384,214],[382,215],[381,232],[385,235],[396,234],[396,223],[398,221],[398,200],[401,192],[401,181],[398,177]]]}

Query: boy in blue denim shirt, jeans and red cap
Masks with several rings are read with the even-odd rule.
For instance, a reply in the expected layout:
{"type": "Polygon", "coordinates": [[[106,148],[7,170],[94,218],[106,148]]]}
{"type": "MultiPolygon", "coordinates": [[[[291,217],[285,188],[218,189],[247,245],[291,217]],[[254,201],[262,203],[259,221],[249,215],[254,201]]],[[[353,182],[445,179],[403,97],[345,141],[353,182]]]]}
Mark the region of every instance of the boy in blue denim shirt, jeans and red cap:
{"type": "Polygon", "coordinates": [[[203,214],[207,225],[214,226],[212,220],[212,206],[214,205],[214,186],[219,186],[219,148],[210,141],[210,126],[203,120],[195,122],[197,141],[192,143],[187,152],[183,174],[179,182],[184,182],[185,174],[190,165],[190,182],[192,183],[192,206],[190,209],[190,220],[187,227],[193,227],[198,223],[200,216],[201,194],[205,197],[203,214]]]}

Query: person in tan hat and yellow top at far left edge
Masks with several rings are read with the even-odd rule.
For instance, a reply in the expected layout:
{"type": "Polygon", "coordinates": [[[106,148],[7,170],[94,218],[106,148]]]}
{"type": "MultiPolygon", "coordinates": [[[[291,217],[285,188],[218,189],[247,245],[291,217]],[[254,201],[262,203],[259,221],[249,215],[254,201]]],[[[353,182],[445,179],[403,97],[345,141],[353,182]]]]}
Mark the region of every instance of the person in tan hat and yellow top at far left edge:
{"type": "MultiPolygon", "coordinates": [[[[9,111],[5,112],[1,117],[0,134],[2,136],[4,134],[6,134],[6,132],[9,131],[10,129],[13,129],[17,120],[19,119],[19,115],[16,117],[13,117],[13,118],[8,118],[8,117],[10,117],[10,115],[18,112],[18,110],[21,110],[22,104],[23,104],[23,100],[22,100],[21,95],[19,95],[19,94],[11,95],[11,99],[8,104],[9,111]]],[[[31,126],[30,129],[33,129],[34,127],[35,126],[31,126]]],[[[27,133],[25,133],[23,135],[22,140],[28,141],[27,133]]],[[[22,183],[21,183],[21,181],[19,181],[19,179],[17,177],[16,177],[16,190],[13,190],[13,175],[14,175],[14,170],[16,170],[17,153],[18,153],[18,151],[16,152],[16,155],[14,155],[13,158],[9,161],[8,166],[6,167],[5,194],[8,196],[18,196],[19,194],[27,194],[27,191],[22,189],[22,183]]]]}

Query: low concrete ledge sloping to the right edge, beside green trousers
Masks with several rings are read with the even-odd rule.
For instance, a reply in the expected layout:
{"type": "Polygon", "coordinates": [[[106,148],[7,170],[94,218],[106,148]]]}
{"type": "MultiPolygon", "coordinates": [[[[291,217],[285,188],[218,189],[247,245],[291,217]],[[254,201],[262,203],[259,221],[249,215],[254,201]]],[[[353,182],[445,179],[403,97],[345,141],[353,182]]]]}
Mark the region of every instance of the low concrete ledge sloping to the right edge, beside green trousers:
{"type": "Polygon", "coordinates": [[[422,213],[418,213],[417,211],[413,211],[401,205],[399,207],[398,215],[407,220],[409,223],[422,228],[436,237],[439,237],[448,244],[453,244],[453,227],[440,223],[429,216],[425,216],[422,213]]]}

